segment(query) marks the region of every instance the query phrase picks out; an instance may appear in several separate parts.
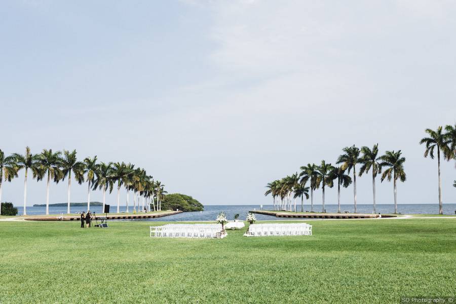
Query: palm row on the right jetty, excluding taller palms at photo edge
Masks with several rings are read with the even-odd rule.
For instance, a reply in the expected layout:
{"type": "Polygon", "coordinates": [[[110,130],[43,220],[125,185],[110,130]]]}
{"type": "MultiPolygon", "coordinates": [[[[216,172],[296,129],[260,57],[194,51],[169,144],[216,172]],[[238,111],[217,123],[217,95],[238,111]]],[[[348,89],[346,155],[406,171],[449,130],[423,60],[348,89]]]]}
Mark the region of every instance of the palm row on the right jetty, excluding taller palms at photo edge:
{"type": "Polygon", "coordinates": [[[318,166],[308,164],[300,167],[300,173],[286,176],[282,179],[268,183],[268,190],[265,196],[269,194],[273,197],[274,210],[293,211],[292,199],[294,198],[294,211],[296,211],[296,199],[301,198],[301,212],[303,212],[304,198],[311,198],[311,211],[314,211],[314,191],[321,187],[322,189],[322,212],[325,212],[325,186],[333,187],[337,184],[337,212],[340,213],[340,186],[348,187],[353,183],[353,197],[356,206],[356,166],[360,165],[358,176],[372,172],[372,194],[373,194],[373,212],[376,212],[375,206],[375,178],[381,175],[381,181],[385,179],[393,180],[394,189],[394,212],[397,213],[397,180],[405,181],[406,174],[404,171],[405,158],[401,150],[386,151],[385,155],[378,156],[378,144],[372,148],[363,146],[360,148],[347,146],[343,148],[344,154],[337,158],[336,164],[322,160],[318,166]],[[383,170],[385,168],[385,170],[383,170]],[[350,176],[353,172],[353,178],[350,176]],[[309,186],[307,183],[309,182],[309,186]]]}

